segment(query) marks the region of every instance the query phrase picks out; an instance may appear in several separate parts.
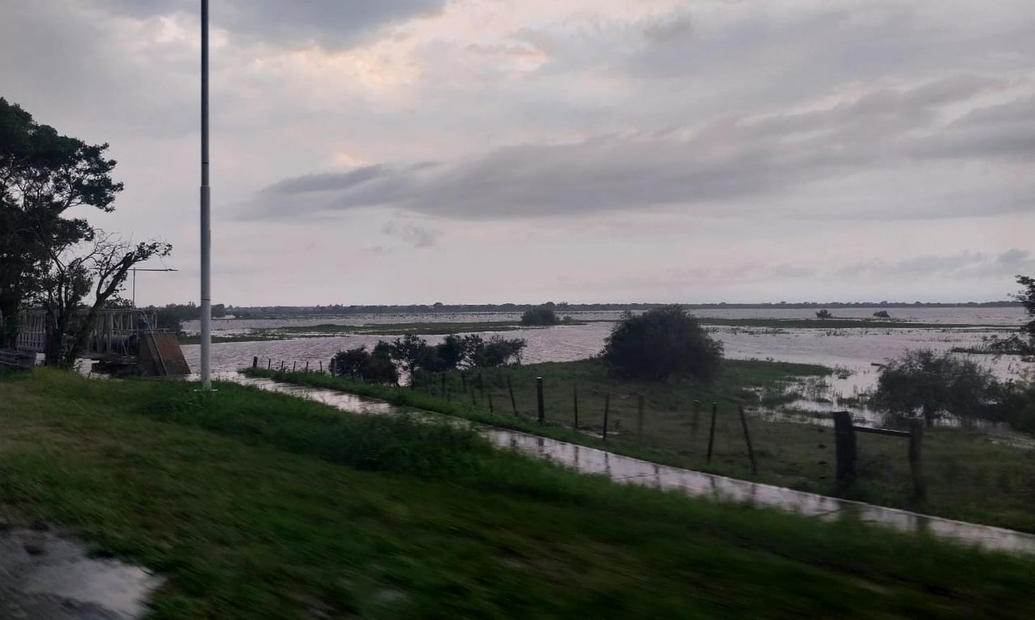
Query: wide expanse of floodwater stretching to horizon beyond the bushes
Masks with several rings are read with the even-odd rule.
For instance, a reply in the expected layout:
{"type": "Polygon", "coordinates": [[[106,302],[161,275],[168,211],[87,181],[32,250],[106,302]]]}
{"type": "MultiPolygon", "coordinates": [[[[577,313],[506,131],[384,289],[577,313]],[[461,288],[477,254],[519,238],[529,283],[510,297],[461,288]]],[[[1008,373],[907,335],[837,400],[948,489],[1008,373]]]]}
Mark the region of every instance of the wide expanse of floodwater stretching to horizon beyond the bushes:
{"type": "MultiPolygon", "coordinates": [[[[877,307],[839,308],[835,317],[870,317],[877,307]]],[[[873,364],[885,363],[909,349],[948,351],[954,347],[973,347],[981,344],[986,335],[1002,334],[1004,329],[1016,328],[1026,320],[1022,307],[903,307],[888,308],[895,320],[926,324],[980,325],[976,328],[896,328],[896,329],[771,329],[744,327],[709,327],[713,336],[722,342],[726,356],[732,359],[766,359],[798,363],[817,363],[842,371],[844,379],[831,377],[828,381],[834,395],[853,395],[870,389],[877,381],[879,368],[873,364]]],[[[701,309],[702,317],[727,319],[812,318],[808,308],[751,308],[751,309],[701,309]]],[[[571,313],[575,320],[616,320],[620,313],[571,313]]],[[[364,325],[419,322],[479,322],[518,320],[516,313],[465,313],[465,314],[397,314],[355,315],[349,317],[317,317],[286,319],[247,319],[213,321],[214,334],[233,334],[248,329],[273,327],[299,327],[320,324],[364,325]]],[[[570,361],[585,359],[599,353],[603,341],[611,333],[612,323],[586,325],[558,325],[549,328],[523,328],[504,332],[484,332],[485,336],[499,333],[504,337],[522,337],[528,343],[523,360],[525,363],[541,361],[570,361]]],[[[197,322],[187,322],[184,329],[197,329],[197,322]]],[[[394,336],[334,335],[305,337],[288,341],[252,343],[219,343],[212,346],[214,371],[232,372],[252,364],[253,356],[263,365],[304,367],[306,362],[315,370],[326,364],[332,355],[344,349],[373,346],[380,339],[394,336]]],[[[441,339],[439,335],[423,335],[430,343],[441,339]]],[[[198,346],[183,347],[183,354],[191,370],[198,370],[198,346]]],[[[1031,372],[1033,364],[1016,356],[971,356],[988,366],[997,376],[1008,379],[1031,372]]]]}

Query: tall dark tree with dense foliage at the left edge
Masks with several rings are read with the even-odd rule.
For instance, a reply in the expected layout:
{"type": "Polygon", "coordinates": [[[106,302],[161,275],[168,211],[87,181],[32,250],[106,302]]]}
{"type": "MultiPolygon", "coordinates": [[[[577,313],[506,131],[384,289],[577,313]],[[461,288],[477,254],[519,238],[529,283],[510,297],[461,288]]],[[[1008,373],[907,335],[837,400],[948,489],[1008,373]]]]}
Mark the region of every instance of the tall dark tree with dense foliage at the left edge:
{"type": "Polygon", "coordinates": [[[105,158],[107,149],[61,136],[0,98],[0,347],[17,342],[19,312],[38,293],[53,255],[91,236],[85,219],[65,211],[113,210],[122,184],[111,178],[115,160],[105,158]]]}

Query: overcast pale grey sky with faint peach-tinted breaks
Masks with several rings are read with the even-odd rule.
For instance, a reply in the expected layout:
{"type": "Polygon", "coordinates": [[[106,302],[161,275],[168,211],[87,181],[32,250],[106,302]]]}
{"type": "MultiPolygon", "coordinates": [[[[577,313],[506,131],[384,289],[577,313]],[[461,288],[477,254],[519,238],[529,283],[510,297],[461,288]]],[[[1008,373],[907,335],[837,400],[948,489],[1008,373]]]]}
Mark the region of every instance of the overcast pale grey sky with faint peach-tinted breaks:
{"type": "MultiPolygon", "coordinates": [[[[1031,0],[211,0],[213,298],[1004,299],[1031,0]]],[[[3,0],[0,96],[111,144],[197,300],[197,0],[3,0]]]]}

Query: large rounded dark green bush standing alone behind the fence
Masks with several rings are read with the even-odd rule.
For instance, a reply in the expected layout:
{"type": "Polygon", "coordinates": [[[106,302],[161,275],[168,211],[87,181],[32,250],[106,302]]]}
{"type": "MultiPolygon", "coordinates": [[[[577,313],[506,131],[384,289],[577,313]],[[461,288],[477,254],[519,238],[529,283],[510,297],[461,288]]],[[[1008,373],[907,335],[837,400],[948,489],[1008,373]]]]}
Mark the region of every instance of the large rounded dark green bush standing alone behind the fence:
{"type": "Polygon", "coordinates": [[[711,380],[718,374],[722,344],[713,341],[679,305],[622,315],[601,358],[621,377],[663,381],[672,375],[711,380]]]}

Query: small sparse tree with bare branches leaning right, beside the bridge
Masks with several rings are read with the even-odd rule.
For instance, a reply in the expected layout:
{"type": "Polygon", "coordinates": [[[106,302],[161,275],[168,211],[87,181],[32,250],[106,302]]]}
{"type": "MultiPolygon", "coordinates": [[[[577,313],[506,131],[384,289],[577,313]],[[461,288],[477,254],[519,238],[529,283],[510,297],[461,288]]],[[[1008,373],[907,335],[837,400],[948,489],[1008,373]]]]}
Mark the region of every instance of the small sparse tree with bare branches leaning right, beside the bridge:
{"type": "Polygon", "coordinates": [[[46,361],[71,366],[86,349],[100,308],[117,297],[129,269],[153,257],[169,256],[161,241],[128,243],[96,231],[79,252],[54,252],[40,281],[38,299],[47,316],[46,361]],[[91,303],[84,305],[88,296],[91,303]]]}

